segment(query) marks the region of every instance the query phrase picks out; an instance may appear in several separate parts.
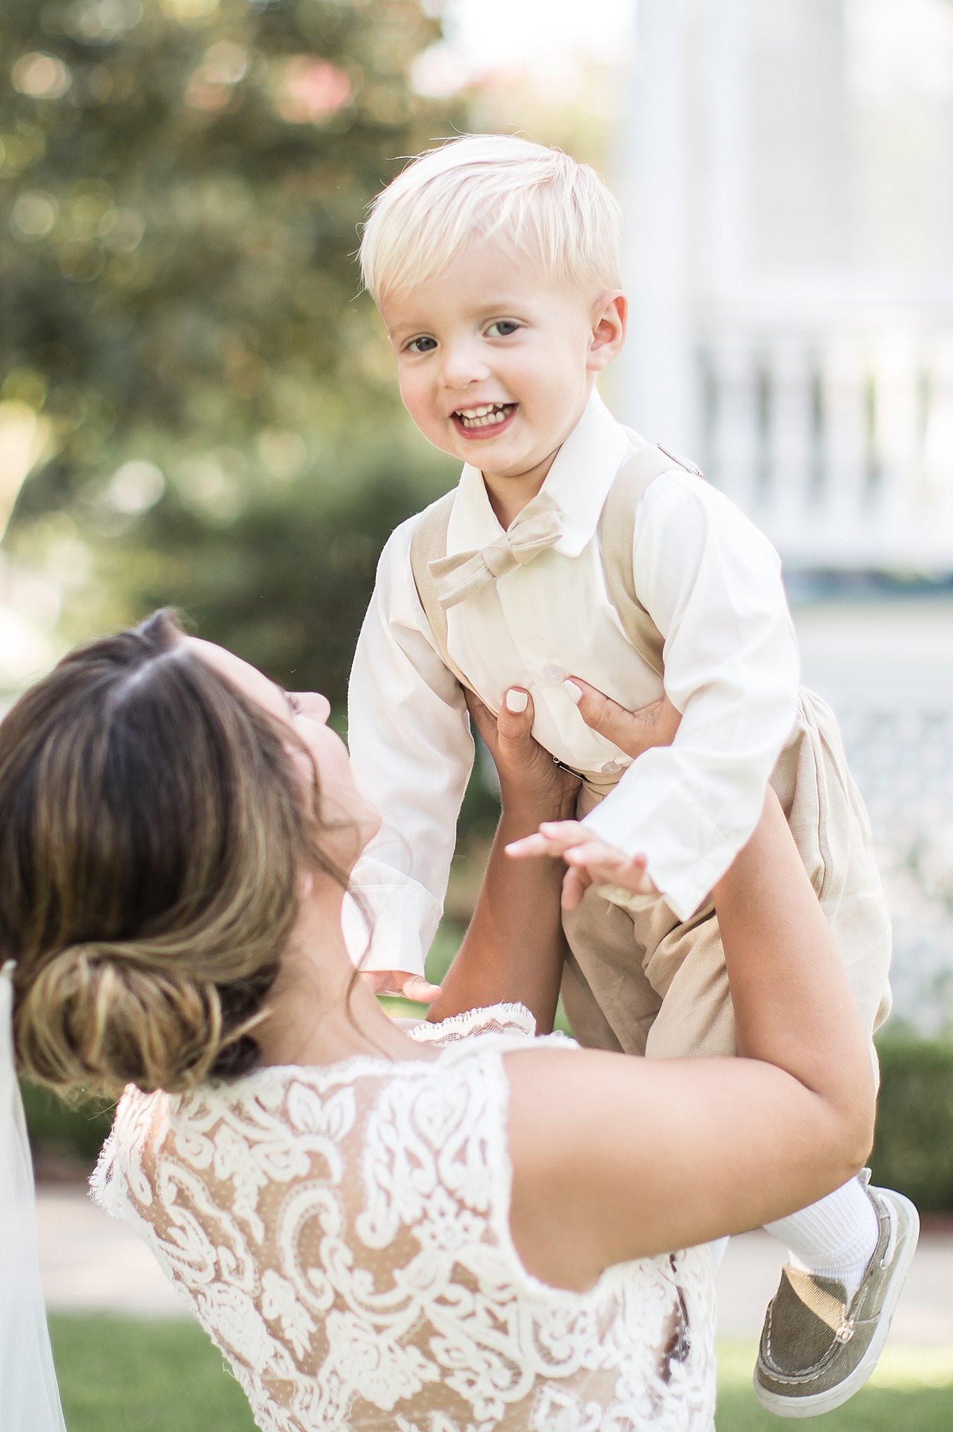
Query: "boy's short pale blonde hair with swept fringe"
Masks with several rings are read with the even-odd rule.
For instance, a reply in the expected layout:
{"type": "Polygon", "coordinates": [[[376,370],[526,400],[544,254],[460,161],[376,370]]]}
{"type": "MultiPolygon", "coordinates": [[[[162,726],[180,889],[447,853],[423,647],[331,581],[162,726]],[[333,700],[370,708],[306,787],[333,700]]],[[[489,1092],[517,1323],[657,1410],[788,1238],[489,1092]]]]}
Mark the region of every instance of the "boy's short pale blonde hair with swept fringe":
{"type": "Polygon", "coordinates": [[[412,291],[474,238],[501,238],[587,296],[620,286],[621,213],[602,179],[509,135],[451,139],[378,195],[361,239],[363,285],[378,304],[412,291]]]}

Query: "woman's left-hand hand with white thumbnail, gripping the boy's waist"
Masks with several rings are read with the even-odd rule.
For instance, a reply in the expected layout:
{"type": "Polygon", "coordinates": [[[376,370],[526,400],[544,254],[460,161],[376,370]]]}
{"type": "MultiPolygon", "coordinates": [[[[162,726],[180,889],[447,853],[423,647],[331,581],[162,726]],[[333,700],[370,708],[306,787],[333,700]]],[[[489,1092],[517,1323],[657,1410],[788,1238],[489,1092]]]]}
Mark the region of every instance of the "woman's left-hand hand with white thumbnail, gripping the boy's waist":
{"type": "Polygon", "coordinates": [[[498,716],[472,692],[466,692],[466,707],[494,758],[504,808],[531,809],[534,823],[574,815],[580,778],[557,766],[549,752],[532,739],[529,693],[511,686],[498,716]]]}

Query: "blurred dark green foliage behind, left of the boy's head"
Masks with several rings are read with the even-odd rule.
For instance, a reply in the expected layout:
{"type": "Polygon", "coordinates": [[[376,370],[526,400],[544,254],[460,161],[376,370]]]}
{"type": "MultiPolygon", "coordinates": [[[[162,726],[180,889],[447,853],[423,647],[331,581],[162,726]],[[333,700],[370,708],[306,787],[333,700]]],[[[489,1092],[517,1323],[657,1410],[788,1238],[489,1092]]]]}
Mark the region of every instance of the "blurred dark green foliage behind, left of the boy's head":
{"type": "Polygon", "coordinates": [[[7,538],[66,639],[183,606],[341,702],[378,550],[452,480],[356,296],[358,225],[464,127],[418,0],[0,10],[0,400],[50,424],[7,538]]]}

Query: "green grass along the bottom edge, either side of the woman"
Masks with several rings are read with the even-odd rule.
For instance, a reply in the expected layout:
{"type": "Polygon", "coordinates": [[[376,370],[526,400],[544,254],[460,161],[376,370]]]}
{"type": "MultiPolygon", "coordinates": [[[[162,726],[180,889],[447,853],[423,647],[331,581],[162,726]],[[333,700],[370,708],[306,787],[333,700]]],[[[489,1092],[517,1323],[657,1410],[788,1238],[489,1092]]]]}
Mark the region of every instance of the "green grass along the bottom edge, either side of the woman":
{"type": "MultiPolygon", "coordinates": [[[[69,1432],[253,1432],[245,1396],[189,1322],[54,1313],[69,1432]]],[[[718,1348],[718,1432],[778,1432],[751,1392],[754,1343],[718,1348]]],[[[806,1432],[950,1432],[953,1349],[889,1348],[863,1392],[806,1432]]]]}

